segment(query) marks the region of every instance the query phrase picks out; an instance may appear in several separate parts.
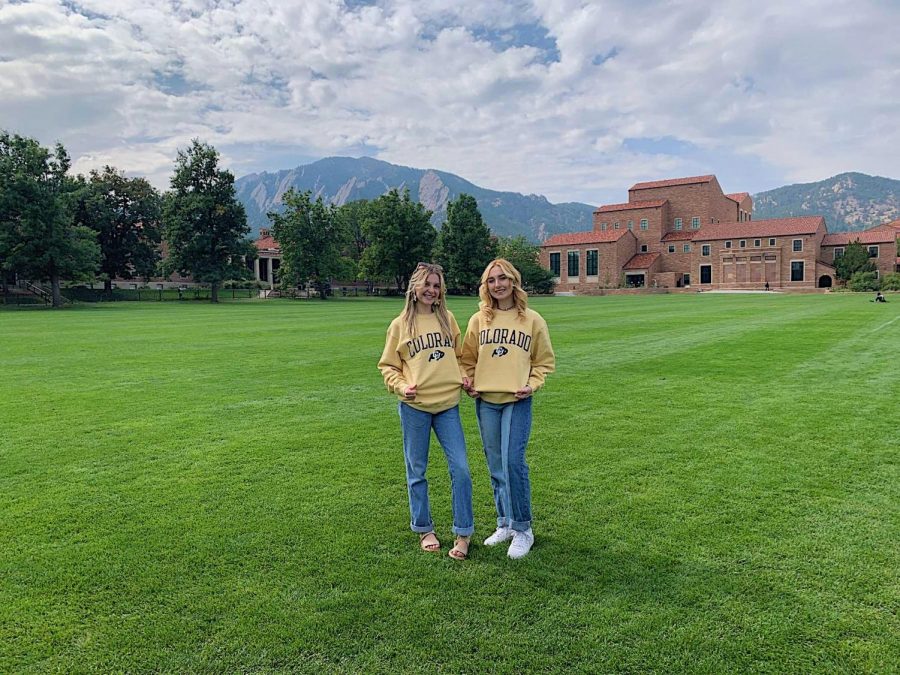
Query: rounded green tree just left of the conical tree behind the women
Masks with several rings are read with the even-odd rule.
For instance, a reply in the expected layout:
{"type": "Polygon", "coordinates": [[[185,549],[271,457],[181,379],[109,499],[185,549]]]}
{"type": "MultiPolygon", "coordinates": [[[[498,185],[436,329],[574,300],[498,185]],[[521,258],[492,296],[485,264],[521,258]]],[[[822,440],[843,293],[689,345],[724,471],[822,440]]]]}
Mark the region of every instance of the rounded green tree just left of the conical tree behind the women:
{"type": "Polygon", "coordinates": [[[393,281],[403,291],[416,263],[431,259],[437,233],[431,225],[431,211],[409,197],[391,190],[369,203],[363,220],[363,234],[369,246],[360,268],[370,279],[393,281]]]}

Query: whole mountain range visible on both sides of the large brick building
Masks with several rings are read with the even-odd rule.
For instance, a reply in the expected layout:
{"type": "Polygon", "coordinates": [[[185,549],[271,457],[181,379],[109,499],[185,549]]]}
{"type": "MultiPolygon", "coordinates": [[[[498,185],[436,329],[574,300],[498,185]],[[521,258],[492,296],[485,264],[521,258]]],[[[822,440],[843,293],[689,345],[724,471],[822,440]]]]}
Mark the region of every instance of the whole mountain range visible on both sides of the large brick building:
{"type": "MultiPolygon", "coordinates": [[[[375,199],[391,188],[409,189],[413,199],[433,212],[440,227],[447,202],[470,194],[491,230],[502,236],[525,235],[534,242],[561,232],[591,229],[596,206],[568,202],[551,204],[541,195],[497,192],[478,187],[452,173],[413,169],[370,157],[328,157],[275,173],[254,173],[235,181],[238,199],[247,211],[255,237],[269,227],[266,214],[283,209],[281,196],[290,188],[310,190],[314,197],[341,205],[375,199]]],[[[628,186],[623,186],[627,189],[628,186]]],[[[818,183],[787,185],[753,195],[756,220],[822,215],[829,232],[863,230],[900,218],[900,181],[862,173],[842,173],[818,183]]]]}

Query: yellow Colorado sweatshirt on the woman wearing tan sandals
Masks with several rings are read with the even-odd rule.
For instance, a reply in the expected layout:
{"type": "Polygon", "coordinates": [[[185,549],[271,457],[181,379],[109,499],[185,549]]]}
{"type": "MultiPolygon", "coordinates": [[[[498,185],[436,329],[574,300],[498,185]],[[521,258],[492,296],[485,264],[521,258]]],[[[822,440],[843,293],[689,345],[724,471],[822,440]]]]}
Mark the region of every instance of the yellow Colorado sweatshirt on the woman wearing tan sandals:
{"type": "Polygon", "coordinates": [[[416,315],[416,334],[410,335],[401,317],[388,327],[378,369],[389,391],[404,403],[432,414],[459,404],[464,371],[459,365],[462,351],[459,324],[450,315],[453,335],[441,332],[434,314],[416,315]],[[404,390],[415,384],[416,397],[407,400],[404,390]]]}

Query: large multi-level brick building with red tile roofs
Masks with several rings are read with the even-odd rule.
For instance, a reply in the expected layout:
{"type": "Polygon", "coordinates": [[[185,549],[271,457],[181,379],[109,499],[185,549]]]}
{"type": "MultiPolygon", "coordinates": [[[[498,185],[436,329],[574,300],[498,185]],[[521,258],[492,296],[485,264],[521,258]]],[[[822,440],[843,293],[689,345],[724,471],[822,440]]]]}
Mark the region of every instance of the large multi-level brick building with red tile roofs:
{"type": "Polygon", "coordinates": [[[870,251],[882,274],[898,262],[887,245],[896,232],[890,224],[829,235],[821,216],[754,221],[750,195],[723,193],[711,175],[637,183],[627,202],[601,206],[593,220],[590,232],[541,245],[557,290],[827,288],[835,250],[856,237],[876,247],[870,251]]]}

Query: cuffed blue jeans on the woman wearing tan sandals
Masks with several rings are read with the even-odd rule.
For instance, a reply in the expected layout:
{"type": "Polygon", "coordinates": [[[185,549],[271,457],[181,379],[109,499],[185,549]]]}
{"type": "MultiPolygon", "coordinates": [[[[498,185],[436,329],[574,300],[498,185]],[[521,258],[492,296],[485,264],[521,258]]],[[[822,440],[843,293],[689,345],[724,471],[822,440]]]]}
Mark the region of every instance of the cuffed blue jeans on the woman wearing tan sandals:
{"type": "Polygon", "coordinates": [[[459,419],[459,406],[436,414],[398,404],[400,427],[403,429],[403,456],[406,459],[406,487],[409,492],[410,527],[424,534],[434,529],[428,503],[428,446],[431,430],[447,457],[450,469],[450,491],[453,504],[453,533],[468,537],[475,531],[472,513],[472,476],[466,459],[466,439],[459,419]]]}

